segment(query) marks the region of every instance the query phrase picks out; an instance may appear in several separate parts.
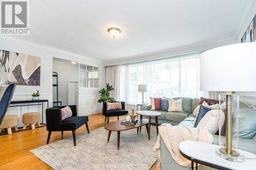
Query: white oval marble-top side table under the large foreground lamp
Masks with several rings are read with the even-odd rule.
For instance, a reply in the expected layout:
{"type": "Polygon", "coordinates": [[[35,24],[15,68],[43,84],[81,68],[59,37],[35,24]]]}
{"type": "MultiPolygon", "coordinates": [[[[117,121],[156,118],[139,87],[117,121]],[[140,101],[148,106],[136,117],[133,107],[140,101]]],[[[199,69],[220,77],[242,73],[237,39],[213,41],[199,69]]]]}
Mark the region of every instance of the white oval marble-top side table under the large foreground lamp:
{"type": "Polygon", "coordinates": [[[180,143],[180,153],[182,156],[191,160],[191,170],[194,170],[194,163],[198,169],[198,163],[222,170],[238,170],[238,169],[252,169],[256,165],[256,155],[250,152],[237,150],[245,156],[244,162],[231,162],[219,157],[215,150],[219,145],[204,143],[199,141],[183,141],[180,143]]]}

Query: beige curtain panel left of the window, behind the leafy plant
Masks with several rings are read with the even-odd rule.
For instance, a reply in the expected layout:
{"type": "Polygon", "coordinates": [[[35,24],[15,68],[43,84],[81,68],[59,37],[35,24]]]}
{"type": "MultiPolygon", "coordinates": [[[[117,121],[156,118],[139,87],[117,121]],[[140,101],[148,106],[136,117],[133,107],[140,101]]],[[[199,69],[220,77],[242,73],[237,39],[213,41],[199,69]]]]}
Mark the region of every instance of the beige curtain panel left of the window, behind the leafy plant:
{"type": "Polygon", "coordinates": [[[115,90],[112,90],[110,92],[110,96],[112,98],[115,98],[116,101],[119,101],[120,99],[120,70],[121,66],[120,65],[113,65],[113,66],[108,66],[106,67],[106,83],[109,83],[112,85],[115,90]]]}

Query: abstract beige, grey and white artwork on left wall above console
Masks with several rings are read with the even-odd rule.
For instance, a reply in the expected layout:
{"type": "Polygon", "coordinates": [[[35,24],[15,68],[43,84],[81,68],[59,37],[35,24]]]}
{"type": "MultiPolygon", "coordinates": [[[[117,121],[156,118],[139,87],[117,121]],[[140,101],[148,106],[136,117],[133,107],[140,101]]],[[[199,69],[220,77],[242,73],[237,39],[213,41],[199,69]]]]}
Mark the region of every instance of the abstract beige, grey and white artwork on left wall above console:
{"type": "Polygon", "coordinates": [[[40,57],[0,50],[0,84],[40,85],[40,57]]]}

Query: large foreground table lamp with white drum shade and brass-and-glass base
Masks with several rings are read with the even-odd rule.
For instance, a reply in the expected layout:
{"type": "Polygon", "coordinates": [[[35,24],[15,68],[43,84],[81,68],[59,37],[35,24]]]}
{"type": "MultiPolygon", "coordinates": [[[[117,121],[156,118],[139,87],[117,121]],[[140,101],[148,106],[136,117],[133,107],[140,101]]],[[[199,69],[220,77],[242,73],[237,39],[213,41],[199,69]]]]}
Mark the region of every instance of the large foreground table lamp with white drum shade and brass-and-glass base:
{"type": "Polygon", "coordinates": [[[256,91],[256,42],[225,45],[202,53],[200,57],[200,90],[227,91],[219,94],[220,109],[225,113],[225,127],[220,127],[217,155],[242,162],[239,147],[238,91],[256,91]],[[223,141],[224,140],[224,141],[223,141]]]}

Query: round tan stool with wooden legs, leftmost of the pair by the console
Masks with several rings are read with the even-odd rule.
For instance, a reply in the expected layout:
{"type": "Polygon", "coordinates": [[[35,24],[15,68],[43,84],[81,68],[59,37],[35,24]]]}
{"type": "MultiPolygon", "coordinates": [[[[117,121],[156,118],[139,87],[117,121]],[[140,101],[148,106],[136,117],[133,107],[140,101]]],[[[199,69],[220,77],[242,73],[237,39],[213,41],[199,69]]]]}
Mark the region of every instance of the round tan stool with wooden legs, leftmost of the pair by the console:
{"type": "Polygon", "coordinates": [[[7,129],[8,134],[12,134],[12,127],[15,131],[18,131],[18,116],[17,115],[5,115],[2,124],[0,125],[0,132],[2,129],[7,129]]]}

